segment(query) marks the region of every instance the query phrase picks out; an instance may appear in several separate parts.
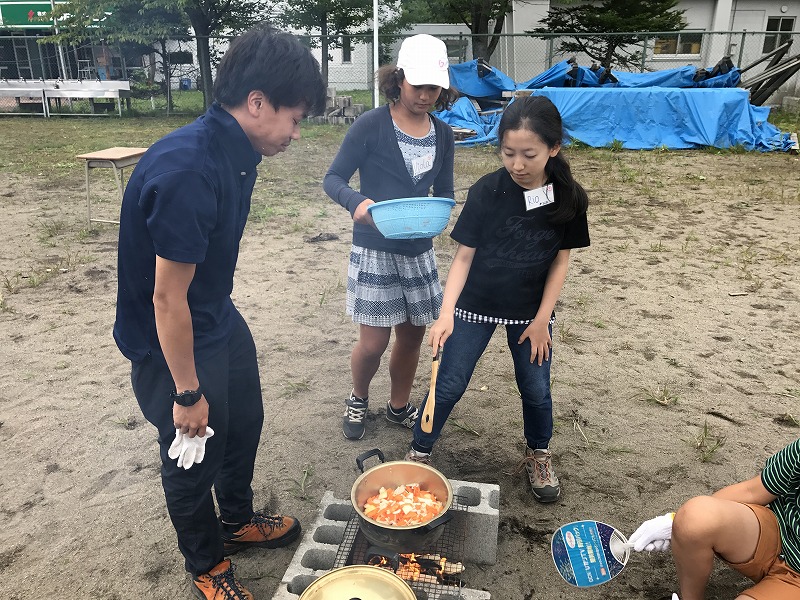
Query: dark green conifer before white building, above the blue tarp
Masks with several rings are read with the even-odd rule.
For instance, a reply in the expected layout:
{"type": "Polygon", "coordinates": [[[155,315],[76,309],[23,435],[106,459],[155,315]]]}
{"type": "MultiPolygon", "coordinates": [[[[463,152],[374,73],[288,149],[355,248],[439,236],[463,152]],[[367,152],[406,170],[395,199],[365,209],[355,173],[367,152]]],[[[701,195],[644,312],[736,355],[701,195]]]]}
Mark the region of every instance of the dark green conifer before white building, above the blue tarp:
{"type": "Polygon", "coordinates": [[[630,67],[641,60],[631,50],[643,36],[636,32],[680,31],[686,27],[679,0],[605,0],[601,4],[567,5],[551,8],[538,27],[527,33],[565,34],[559,51],[585,53],[606,69],[617,64],[630,67]],[[603,34],[602,36],[596,34],[603,34]]]}

